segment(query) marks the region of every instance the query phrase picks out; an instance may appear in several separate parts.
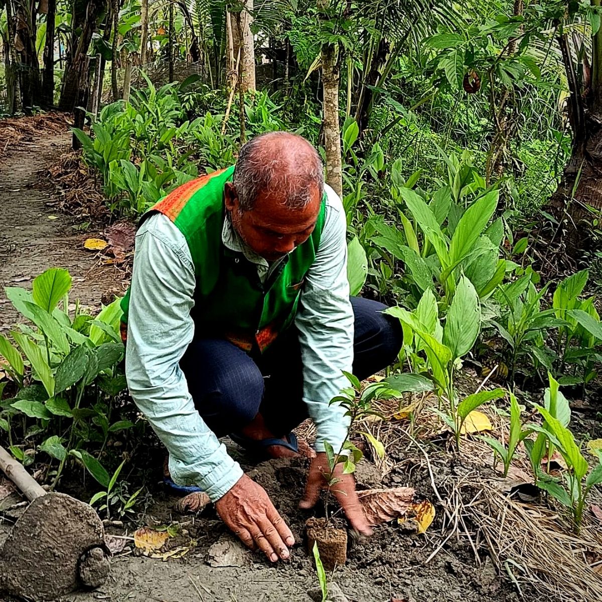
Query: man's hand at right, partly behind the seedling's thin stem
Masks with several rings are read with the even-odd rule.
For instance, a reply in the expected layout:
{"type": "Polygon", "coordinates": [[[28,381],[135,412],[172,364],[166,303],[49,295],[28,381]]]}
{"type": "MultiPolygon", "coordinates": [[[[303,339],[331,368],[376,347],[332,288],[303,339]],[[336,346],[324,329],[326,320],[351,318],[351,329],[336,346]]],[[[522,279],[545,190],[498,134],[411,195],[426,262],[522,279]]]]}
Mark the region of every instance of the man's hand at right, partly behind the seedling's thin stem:
{"type": "MultiPolygon", "coordinates": [[[[320,497],[320,489],[328,485],[329,473],[330,468],[326,453],[320,452],[311,461],[305,494],[299,503],[299,507],[309,509],[315,506],[320,497]]],[[[335,467],[334,478],[338,479],[338,481],[332,485],[331,490],[337,498],[338,503],[341,504],[347,520],[349,520],[353,529],[359,531],[359,533],[372,535],[372,529],[364,516],[364,509],[359,503],[358,494],[355,491],[353,474],[343,474],[343,464],[341,463],[335,467]]]]}

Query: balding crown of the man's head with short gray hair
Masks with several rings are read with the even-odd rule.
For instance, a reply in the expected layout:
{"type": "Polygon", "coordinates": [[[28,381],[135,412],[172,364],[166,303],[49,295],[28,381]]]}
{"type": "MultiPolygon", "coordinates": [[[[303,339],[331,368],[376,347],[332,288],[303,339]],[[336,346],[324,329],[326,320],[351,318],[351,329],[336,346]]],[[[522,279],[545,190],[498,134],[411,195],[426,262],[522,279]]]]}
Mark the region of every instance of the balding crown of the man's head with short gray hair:
{"type": "Polygon", "coordinates": [[[324,191],[320,155],[305,138],[290,132],[267,132],[240,149],[232,180],[241,211],[250,211],[261,193],[278,192],[282,204],[303,209],[315,188],[324,191]]]}

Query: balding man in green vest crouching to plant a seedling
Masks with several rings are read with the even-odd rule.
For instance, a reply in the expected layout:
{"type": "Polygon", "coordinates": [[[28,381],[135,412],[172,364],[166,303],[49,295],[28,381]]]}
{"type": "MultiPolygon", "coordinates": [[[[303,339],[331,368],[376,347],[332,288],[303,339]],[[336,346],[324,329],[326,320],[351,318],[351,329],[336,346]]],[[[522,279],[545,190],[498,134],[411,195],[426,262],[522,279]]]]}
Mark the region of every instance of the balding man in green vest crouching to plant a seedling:
{"type": "MultiPolygon", "coordinates": [[[[348,385],[342,371],[370,376],[402,344],[382,304],[349,297],[346,217],[314,147],[260,135],[235,166],[160,200],[141,220],[122,307],[129,390],[169,451],[167,483],[206,492],[244,544],[287,558],[293,534],[218,438],[312,458],[300,502],[312,507],[324,442],[338,449],[349,427],[329,405],[348,385]],[[307,417],[313,450],[291,432],[307,417]]],[[[353,476],[338,478],[347,519],[370,533],[353,476]]]]}

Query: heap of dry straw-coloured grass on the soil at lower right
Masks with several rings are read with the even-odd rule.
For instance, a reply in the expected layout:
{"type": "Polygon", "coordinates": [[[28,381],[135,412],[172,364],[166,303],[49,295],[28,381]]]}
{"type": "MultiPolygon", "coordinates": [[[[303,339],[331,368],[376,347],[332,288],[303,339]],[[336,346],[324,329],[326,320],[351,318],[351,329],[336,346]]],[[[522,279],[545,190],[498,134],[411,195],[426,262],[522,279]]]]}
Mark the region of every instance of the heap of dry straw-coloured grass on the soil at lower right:
{"type": "MultiPolygon", "coordinates": [[[[503,467],[494,467],[492,450],[485,442],[463,438],[461,454],[455,453],[453,438],[443,432],[444,425],[428,411],[437,406],[435,396],[408,395],[401,406],[409,405],[414,406],[412,421],[394,418],[399,411],[397,402],[377,402],[374,409],[384,420],[364,421],[357,430],[368,430],[388,450],[394,446],[420,450],[422,467],[426,468],[433,491],[431,501],[438,501],[438,512],[443,517],[441,532],[430,535],[433,551],[426,563],[450,539],[462,538],[470,544],[477,566],[482,562],[480,550],[486,548],[498,573],[507,576],[521,595],[535,592],[541,600],[600,602],[602,523],[591,510],[585,510],[582,527],[576,534],[570,519],[562,507],[554,505],[554,500],[542,498],[525,503],[517,497],[517,486],[532,482],[529,459],[522,445],[504,479],[503,467]],[[435,450],[429,448],[427,441],[443,445],[435,450]],[[453,459],[459,460],[463,470],[450,469],[453,459]],[[441,463],[448,465],[447,471],[441,471],[441,463]],[[455,474],[458,472],[462,474],[455,474]]],[[[494,405],[484,411],[492,423],[492,436],[506,441],[507,417],[495,411],[494,405]]],[[[383,459],[372,456],[383,475],[396,467],[388,453],[383,459]]],[[[411,464],[415,465],[414,457],[404,469],[409,470],[411,464]]],[[[601,499],[600,489],[592,491],[588,505],[600,504],[601,499]]]]}

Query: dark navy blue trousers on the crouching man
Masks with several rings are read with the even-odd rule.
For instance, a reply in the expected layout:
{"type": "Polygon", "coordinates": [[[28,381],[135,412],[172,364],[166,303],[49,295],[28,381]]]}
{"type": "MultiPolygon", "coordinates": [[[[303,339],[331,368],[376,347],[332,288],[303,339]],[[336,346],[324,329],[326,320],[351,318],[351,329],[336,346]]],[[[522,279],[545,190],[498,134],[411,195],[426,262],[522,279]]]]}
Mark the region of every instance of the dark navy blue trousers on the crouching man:
{"type": "MultiPolygon", "coordinates": [[[[382,314],[385,305],[352,297],[355,315],[353,374],[364,379],[393,362],[403,343],[399,320],[382,314]]],[[[261,356],[251,356],[223,339],[194,340],[180,362],[194,405],[221,437],[240,432],[261,412],[277,437],[308,417],[303,403],[299,335],[281,334],[261,356]]]]}

